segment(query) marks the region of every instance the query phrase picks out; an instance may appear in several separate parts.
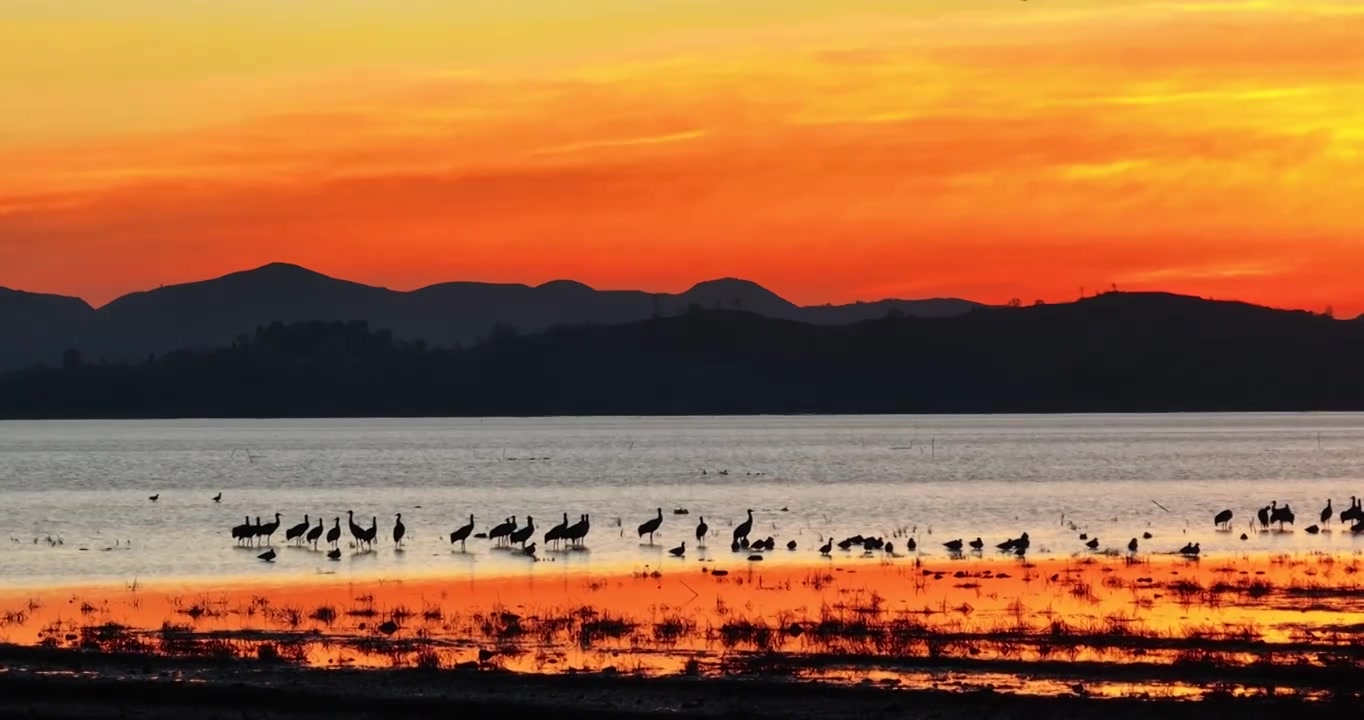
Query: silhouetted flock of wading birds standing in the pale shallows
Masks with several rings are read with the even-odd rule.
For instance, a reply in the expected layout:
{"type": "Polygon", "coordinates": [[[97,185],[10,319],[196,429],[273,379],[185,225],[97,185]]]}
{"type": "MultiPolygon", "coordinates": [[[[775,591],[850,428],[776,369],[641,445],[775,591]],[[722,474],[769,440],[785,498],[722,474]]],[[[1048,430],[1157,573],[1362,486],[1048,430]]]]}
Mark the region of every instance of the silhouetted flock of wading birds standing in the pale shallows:
{"type": "MultiPolygon", "coordinates": [[[[151,495],[149,499],[155,502],[158,495],[151,495]]],[[[220,492],[213,498],[214,502],[222,500],[222,494],[220,492]]],[[[783,509],[786,510],[786,509],[783,509]]],[[[675,514],[687,514],[686,510],[674,510],[675,514]]],[[[1234,513],[1232,510],[1222,510],[1217,513],[1213,518],[1213,524],[1218,530],[1230,532],[1232,520],[1234,520],[1234,513]]],[[[1349,532],[1353,535],[1364,535],[1364,499],[1350,498],[1350,505],[1346,510],[1339,514],[1331,506],[1331,500],[1326,502],[1326,507],[1320,513],[1320,525],[1311,525],[1305,528],[1305,532],[1316,535],[1322,532],[1322,525],[1330,526],[1334,518],[1339,518],[1341,522],[1352,524],[1349,532]]],[[[516,515],[505,518],[502,522],[491,526],[487,532],[475,533],[475,517],[471,514],[469,521],[465,525],[450,532],[450,544],[458,543],[460,550],[465,550],[465,544],[471,537],[491,540],[498,547],[513,548],[527,555],[529,558],[536,556],[537,543],[535,518],[527,515],[525,525],[517,522],[516,515]]],[[[1254,520],[1251,521],[1251,529],[1258,529],[1259,532],[1269,532],[1274,525],[1278,525],[1279,532],[1285,532],[1285,525],[1293,525],[1297,520],[1292,507],[1285,503],[1279,505],[1278,500],[1256,510],[1254,520]]],[[[357,525],[355,522],[355,511],[346,513],[346,524],[349,535],[353,540],[353,545],[357,551],[372,550],[375,539],[379,533],[379,518],[372,515],[370,518],[370,526],[357,525]]],[[[276,513],[274,520],[270,522],[261,522],[261,517],[255,518],[255,522],[250,517],[246,522],[232,528],[232,537],[239,545],[255,545],[259,543],[270,544],[274,535],[280,530],[281,514],[276,513]]],[[[644,522],[637,528],[638,536],[641,539],[648,539],[648,544],[653,544],[653,536],[663,526],[663,509],[657,509],[657,514],[644,522]]],[[[550,528],[542,537],[546,545],[554,545],[557,548],[581,548],[588,532],[592,529],[591,515],[578,515],[577,522],[569,522],[569,514],[563,513],[563,520],[558,525],[550,528]]],[[[707,537],[709,536],[711,528],[707,525],[705,518],[701,517],[696,526],[696,541],[698,547],[705,547],[707,537]]],[[[747,510],[747,518],[734,526],[732,539],[730,543],[730,550],[734,552],[749,551],[750,560],[761,560],[762,556],[758,555],[761,551],[772,551],[776,548],[776,540],[771,536],[765,539],[750,540],[753,533],[753,510],[747,510]]],[[[402,550],[402,540],[406,536],[406,526],[402,524],[402,514],[398,513],[393,524],[393,544],[397,550],[402,550]]],[[[323,518],[316,518],[316,525],[312,524],[311,515],[304,515],[303,522],[293,525],[284,532],[286,541],[303,545],[311,544],[314,550],[318,550],[321,541],[326,540],[329,545],[327,558],[331,560],[341,559],[341,518],[333,518],[331,528],[326,528],[323,518]]],[[[1144,540],[1151,539],[1151,533],[1143,533],[1144,540]]],[[[1248,540],[1249,536],[1243,533],[1241,540],[1248,540]]],[[[1080,533],[1080,540],[1084,541],[1084,547],[1090,551],[1099,551],[1101,543],[1098,537],[1090,537],[1087,533],[1080,533]]],[[[892,541],[887,541],[881,536],[863,536],[854,535],[846,537],[837,543],[833,539],[828,539],[818,548],[820,555],[829,556],[833,548],[842,551],[853,551],[861,548],[863,554],[872,555],[877,551],[884,552],[887,556],[896,556],[896,547],[892,541]]],[[[949,540],[943,543],[943,547],[948,550],[949,554],[960,555],[967,551],[979,554],[985,550],[985,540],[977,537],[975,540],[966,541],[963,539],[949,540]]],[[[1009,537],[1001,543],[994,544],[994,548],[1004,554],[1013,554],[1016,556],[1024,556],[1031,547],[1031,540],[1028,533],[1022,533],[1018,537],[1009,537]]],[[[1140,541],[1133,537],[1127,543],[1128,552],[1138,552],[1140,541]]],[[[790,551],[797,550],[797,541],[790,540],[786,544],[790,551]]],[[[906,552],[914,552],[918,550],[918,543],[914,537],[906,537],[903,550],[906,552]]],[[[668,550],[668,554],[677,558],[685,556],[687,552],[686,541],[668,550]]],[[[1188,543],[1178,550],[1180,555],[1198,556],[1202,552],[1200,543],[1188,543]]],[[[258,558],[265,562],[274,562],[278,555],[274,548],[270,547],[265,552],[259,554],[258,558]]]]}

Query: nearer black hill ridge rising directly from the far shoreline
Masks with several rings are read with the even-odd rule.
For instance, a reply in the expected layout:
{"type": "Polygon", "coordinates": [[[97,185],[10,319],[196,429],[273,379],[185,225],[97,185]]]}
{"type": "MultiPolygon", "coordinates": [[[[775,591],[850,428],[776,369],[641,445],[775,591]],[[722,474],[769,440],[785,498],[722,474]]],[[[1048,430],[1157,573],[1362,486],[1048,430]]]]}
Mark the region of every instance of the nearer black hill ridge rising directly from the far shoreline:
{"type": "Polygon", "coordinates": [[[0,375],[0,416],[1364,410],[1361,368],[1356,322],[1110,293],[850,325],[694,308],[458,350],[273,325],[216,350],[0,375]]]}

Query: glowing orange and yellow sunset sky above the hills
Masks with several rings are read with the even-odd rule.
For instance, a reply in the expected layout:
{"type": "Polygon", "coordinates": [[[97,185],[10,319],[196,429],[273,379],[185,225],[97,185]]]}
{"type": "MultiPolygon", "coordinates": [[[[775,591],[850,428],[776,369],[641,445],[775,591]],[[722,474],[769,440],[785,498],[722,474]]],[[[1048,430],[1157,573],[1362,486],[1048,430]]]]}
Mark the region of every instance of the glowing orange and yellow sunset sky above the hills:
{"type": "Polygon", "coordinates": [[[0,285],[1364,312],[1357,0],[0,0],[0,285]]]}

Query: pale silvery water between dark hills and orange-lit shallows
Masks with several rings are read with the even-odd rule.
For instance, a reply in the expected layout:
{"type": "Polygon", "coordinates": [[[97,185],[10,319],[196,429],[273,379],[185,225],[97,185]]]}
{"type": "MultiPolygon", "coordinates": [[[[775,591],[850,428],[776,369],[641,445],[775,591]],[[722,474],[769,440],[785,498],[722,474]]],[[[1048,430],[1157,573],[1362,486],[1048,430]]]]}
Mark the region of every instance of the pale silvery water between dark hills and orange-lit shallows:
{"type": "Polygon", "coordinates": [[[1112,550],[1150,532],[1143,552],[1187,541],[1204,554],[1338,552],[1364,540],[1303,528],[1326,498],[1339,510],[1364,492],[1361,460],[1360,415],[0,423],[0,582],[742,563],[728,536],[747,507],[753,537],[777,541],[768,563],[807,562],[821,539],[854,533],[900,547],[910,533],[934,556],[945,540],[1023,530],[1039,555],[1083,552],[1086,530],[1112,550]],[[1241,541],[1271,500],[1292,503],[1297,532],[1241,541]],[[662,532],[641,545],[634,528],[657,507],[662,532]],[[1226,507],[1234,532],[1214,532],[1226,507]],[[378,517],[376,552],[329,562],[281,547],[267,566],[228,535],[278,511],[282,545],[304,513],[329,526],[340,517],[344,530],[346,510],[361,525],[378,517]],[[471,513],[479,532],[529,514],[543,535],[562,513],[591,513],[593,529],[587,552],[542,547],[554,563],[483,540],[451,552],[447,535],[471,513]],[[701,515],[716,533],[709,554],[693,547],[701,515]],[[682,540],[687,560],[667,556],[682,540]]]}

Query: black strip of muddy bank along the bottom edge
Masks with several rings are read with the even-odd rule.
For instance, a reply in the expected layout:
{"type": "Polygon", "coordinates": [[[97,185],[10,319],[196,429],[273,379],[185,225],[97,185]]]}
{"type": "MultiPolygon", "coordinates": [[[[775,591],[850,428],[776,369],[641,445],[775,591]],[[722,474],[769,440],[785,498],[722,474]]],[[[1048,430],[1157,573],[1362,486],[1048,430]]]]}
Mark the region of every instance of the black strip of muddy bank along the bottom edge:
{"type": "Polygon", "coordinates": [[[0,716],[67,717],[1338,717],[1357,700],[1099,700],[844,687],[791,680],[300,670],[0,645],[0,716]]]}

